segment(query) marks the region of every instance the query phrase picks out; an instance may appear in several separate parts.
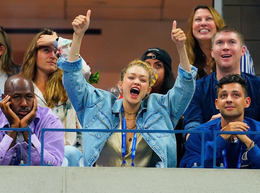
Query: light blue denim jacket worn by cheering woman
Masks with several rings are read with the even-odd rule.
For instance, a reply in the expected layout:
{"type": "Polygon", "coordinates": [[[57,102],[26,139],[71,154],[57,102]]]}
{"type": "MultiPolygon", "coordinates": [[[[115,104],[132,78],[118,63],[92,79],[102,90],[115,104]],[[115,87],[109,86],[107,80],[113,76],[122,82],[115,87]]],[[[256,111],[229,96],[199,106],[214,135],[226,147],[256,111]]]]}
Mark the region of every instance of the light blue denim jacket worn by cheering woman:
{"type": "MultiPolygon", "coordinates": [[[[57,67],[64,70],[63,85],[74,106],[83,129],[118,129],[123,99],[86,83],[81,73],[81,58],[68,62],[59,58],[57,67]]],[[[187,72],[179,66],[174,87],[166,95],[150,94],[141,102],[136,118],[139,129],[173,130],[189,105],[195,91],[197,69],[187,72]]],[[[84,166],[91,167],[98,159],[107,132],[83,133],[84,166]]],[[[169,133],[141,133],[165,167],[176,167],[176,139],[169,133]]]]}

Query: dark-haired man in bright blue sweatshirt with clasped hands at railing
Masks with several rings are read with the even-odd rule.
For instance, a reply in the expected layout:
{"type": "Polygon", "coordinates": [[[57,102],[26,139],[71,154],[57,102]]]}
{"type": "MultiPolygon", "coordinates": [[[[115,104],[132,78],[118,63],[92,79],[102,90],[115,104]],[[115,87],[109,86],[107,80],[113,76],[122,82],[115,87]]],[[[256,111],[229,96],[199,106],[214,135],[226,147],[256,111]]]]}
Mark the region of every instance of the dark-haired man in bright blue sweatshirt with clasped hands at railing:
{"type": "MultiPolygon", "coordinates": [[[[259,169],[260,149],[256,144],[260,143],[260,136],[240,134],[260,131],[260,122],[244,117],[244,110],[251,102],[247,95],[247,82],[240,75],[228,75],[219,80],[216,89],[215,105],[221,117],[195,129],[205,132],[204,167],[213,167],[214,140],[217,140],[216,166],[223,163],[225,168],[259,169]],[[218,134],[214,139],[214,131],[234,131],[239,134],[218,134]]],[[[180,167],[192,167],[195,162],[201,165],[201,143],[201,134],[189,136],[180,167]]]]}

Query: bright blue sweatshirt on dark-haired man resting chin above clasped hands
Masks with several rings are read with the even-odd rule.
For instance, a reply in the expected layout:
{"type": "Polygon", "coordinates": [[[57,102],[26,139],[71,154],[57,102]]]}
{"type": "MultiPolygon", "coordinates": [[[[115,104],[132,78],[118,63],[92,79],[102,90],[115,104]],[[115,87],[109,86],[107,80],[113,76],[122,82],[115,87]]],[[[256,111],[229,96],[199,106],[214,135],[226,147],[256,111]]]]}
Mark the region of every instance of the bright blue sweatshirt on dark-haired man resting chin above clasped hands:
{"type": "MultiPolygon", "coordinates": [[[[260,122],[251,118],[244,117],[244,123],[246,123],[250,129],[249,132],[259,132],[260,122]]],[[[204,131],[204,168],[213,168],[213,152],[214,152],[214,140],[217,140],[216,145],[216,166],[220,163],[224,163],[222,151],[226,148],[226,160],[228,168],[237,168],[238,157],[242,146],[242,155],[246,151],[246,145],[242,142],[228,143],[221,135],[217,135],[214,139],[214,131],[220,131],[221,129],[221,117],[216,118],[208,123],[198,126],[196,131],[204,131]]],[[[257,145],[260,143],[260,136],[247,134],[247,136],[254,141],[255,146],[247,153],[247,160],[241,161],[241,169],[260,169],[260,149],[257,145]]],[[[201,134],[192,133],[185,143],[186,152],[181,159],[180,167],[191,168],[194,162],[198,166],[201,165],[201,134]]],[[[240,158],[241,159],[241,158],[240,158]]]]}

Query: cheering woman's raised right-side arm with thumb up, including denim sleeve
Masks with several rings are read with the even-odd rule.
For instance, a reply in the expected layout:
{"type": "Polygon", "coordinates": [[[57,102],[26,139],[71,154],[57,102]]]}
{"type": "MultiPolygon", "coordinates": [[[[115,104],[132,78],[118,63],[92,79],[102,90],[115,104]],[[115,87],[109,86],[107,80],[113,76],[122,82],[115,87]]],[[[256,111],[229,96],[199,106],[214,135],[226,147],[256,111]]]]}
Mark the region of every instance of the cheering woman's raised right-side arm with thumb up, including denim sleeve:
{"type": "Polygon", "coordinates": [[[185,48],[185,34],[181,29],[176,28],[176,21],[173,22],[172,40],[180,56],[180,66],[178,68],[178,77],[176,78],[173,88],[165,95],[163,104],[167,112],[172,117],[173,127],[176,126],[186,108],[188,107],[195,91],[195,81],[197,68],[189,64],[189,59],[185,48]]]}

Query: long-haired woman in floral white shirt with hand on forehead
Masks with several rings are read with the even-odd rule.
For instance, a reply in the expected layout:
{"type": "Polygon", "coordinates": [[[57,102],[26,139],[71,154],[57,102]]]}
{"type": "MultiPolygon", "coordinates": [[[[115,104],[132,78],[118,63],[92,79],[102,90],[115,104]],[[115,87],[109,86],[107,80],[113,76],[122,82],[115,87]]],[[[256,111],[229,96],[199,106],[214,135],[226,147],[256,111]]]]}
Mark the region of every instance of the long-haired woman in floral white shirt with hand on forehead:
{"type": "MultiPolygon", "coordinates": [[[[20,74],[32,80],[38,105],[50,107],[66,129],[81,129],[76,112],[62,84],[63,71],[56,67],[58,57],[68,56],[71,40],[58,37],[49,29],[38,33],[26,50],[20,74]]],[[[82,75],[87,81],[90,67],[82,60],[82,75]]],[[[65,132],[65,156],[77,166],[82,156],[82,133],[65,132]]]]}

